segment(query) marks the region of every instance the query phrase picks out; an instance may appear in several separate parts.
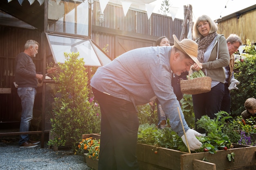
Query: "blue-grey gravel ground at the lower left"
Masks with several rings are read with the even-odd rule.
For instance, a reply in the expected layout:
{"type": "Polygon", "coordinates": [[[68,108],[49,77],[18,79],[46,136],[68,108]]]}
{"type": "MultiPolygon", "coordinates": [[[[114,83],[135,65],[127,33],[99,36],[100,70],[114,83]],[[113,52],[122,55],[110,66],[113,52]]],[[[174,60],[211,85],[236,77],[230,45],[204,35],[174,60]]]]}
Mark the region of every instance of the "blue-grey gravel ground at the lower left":
{"type": "Polygon", "coordinates": [[[45,142],[35,148],[19,148],[18,138],[0,138],[1,170],[91,170],[83,155],[74,155],[67,148],[53,151],[45,142]]]}

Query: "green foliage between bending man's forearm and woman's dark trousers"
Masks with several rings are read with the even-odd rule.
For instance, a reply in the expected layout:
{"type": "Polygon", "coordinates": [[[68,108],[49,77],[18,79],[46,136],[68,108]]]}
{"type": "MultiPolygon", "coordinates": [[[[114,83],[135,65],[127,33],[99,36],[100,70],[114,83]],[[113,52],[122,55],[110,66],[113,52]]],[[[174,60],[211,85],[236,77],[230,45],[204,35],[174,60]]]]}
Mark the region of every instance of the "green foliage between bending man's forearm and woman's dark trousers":
{"type": "Polygon", "coordinates": [[[184,114],[184,118],[186,123],[190,127],[190,129],[195,128],[195,113],[193,109],[193,100],[191,94],[184,94],[183,98],[180,100],[182,104],[182,113],[184,114]]]}

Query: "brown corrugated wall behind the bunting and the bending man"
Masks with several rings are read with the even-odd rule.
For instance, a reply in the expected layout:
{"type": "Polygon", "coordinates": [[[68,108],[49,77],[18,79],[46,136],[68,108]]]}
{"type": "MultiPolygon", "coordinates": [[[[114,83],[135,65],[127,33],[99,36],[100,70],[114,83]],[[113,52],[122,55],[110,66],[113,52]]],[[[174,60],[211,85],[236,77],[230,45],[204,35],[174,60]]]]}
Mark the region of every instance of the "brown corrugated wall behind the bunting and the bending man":
{"type": "MultiPolygon", "coordinates": [[[[117,48],[117,35],[122,34],[124,39],[125,37],[133,37],[135,38],[134,41],[136,41],[136,39],[151,41],[151,44],[154,46],[158,37],[166,36],[169,38],[170,43],[173,43],[172,35],[175,34],[179,39],[182,32],[183,20],[175,19],[173,21],[171,17],[164,15],[152,13],[148,20],[146,12],[129,9],[126,16],[124,16],[122,7],[109,3],[104,10],[104,22],[100,24],[99,13],[99,2],[94,2],[92,26],[97,26],[98,30],[95,31],[92,28],[92,40],[98,44],[100,48],[104,48],[108,44],[108,55],[112,59],[120,55],[115,52],[115,48],[117,48]],[[108,28],[115,29],[116,32],[112,31],[112,33],[110,33],[108,28]]],[[[133,48],[136,47],[128,47],[127,49],[133,48]]]]}

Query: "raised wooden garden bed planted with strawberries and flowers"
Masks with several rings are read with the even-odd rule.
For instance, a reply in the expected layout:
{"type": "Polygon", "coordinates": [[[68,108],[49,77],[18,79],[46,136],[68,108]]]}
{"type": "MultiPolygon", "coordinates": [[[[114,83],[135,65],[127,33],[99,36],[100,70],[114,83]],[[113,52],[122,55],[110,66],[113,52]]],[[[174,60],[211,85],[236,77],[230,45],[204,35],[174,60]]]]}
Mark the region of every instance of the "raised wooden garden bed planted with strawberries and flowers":
{"type": "MultiPolygon", "coordinates": [[[[83,139],[100,138],[99,134],[86,134],[83,139]]],[[[140,170],[255,170],[256,146],[233,144],[234,148],[211,153],[186,153],[178,150],[157,148],[146,144],[137,145],[140,170]],[[153,150],[152,150],[153,149],[153,150]],[[235,153],[234,161],[227,154],[235,153]],[[208,160],[202,161],[204,157],[208,160]]]]}

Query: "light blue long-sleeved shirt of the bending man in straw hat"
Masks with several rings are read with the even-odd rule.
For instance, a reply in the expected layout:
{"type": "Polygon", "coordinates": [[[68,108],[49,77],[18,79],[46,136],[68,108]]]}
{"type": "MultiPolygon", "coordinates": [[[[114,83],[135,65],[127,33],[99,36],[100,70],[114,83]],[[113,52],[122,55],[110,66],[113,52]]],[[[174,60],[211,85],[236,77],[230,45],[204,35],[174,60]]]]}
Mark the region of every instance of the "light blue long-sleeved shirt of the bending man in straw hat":
{"type": "Polygon", "coordinates": [[[132,102],[135,107],[154,98],[170,120],[171,128],[182,136],[180,110],[185,131],[189,129],[180,104],[173,93],[170,66],[172,46],[145,47],[130,50],[107,65],[98,68],[90,85],[100,92],[132,102]]]}

